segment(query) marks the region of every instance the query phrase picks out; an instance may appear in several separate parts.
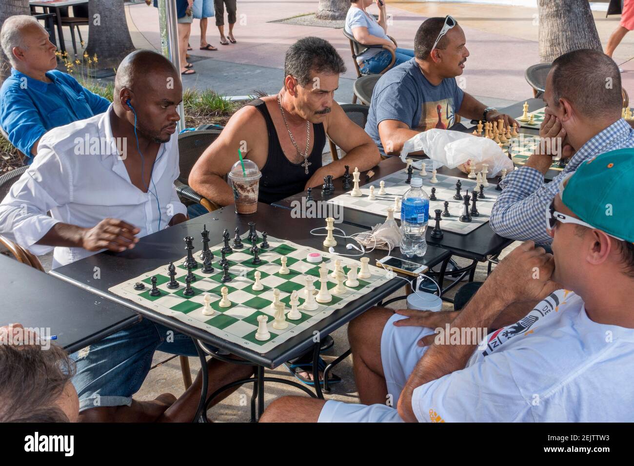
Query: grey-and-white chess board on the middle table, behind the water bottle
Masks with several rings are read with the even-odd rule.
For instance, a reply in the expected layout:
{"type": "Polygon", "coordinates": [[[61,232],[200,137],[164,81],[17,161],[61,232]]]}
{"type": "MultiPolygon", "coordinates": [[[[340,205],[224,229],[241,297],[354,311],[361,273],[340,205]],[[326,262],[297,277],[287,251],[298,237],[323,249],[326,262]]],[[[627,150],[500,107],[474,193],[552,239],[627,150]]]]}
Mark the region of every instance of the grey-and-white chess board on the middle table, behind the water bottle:
{"type": "MultiPolygon", "coordinates": [[[[427,172],[426,176],[420,176],[420,172],[418,170],[414,171],[413,177],[423,179],[423,189],[428,196],[431,194],[431,188],[436,188],[437,200],[429,201],[430,228],[434,227],[434,210],[444,209],[444,201],[448,201],[448,210],[451,214],[451,217],[442,217],[440,227],[443,231],[452,231],[453,233],[459,233],[461,235],[466,235],[467,233],[470,233],[471,231],[489,221],[493,204],[495,203],[495,200],[498,198],[498,195],[501,192],[495,190],[496,183],[491,183],[489,181],[489,186],[487,188],[484,188],[485,198],[477,200],[476,205],[480,216],[472,217],[471,222],[461,222],[459,220],[459,217],[462,215],[464,204],[462,200],[455,200],[453,198],[453,196],[456,194],[456,181],[458,181],[459,179],[460,183],[462,183],[462,188],[460,191],[461,194],[465,194],[465,190],[468,189],[469,195],[471,195],[472,191],[475,190],[475,179],[457,178],[455,176],[436,174],[436,179],[438,180],[438,183],[434,184],[430,183],[429,181],[432,178],[431,172],[427,172]]],[[[407,172],[404,170],[400,170],[398,172],[389,174],[384,178],[377,179],[372,183],[365,184],[365,186],[361,186],[361,193],[363,194],[361,197],[352,197],[348,192],[346,194],[339,195],[329,200],[328,202],[341,205],[342,207],[347,207],[349,209],[362,210],[363,212],[372,212],[373,214],[387,217],[387,209],[389,207],[394,207],[394,198],[402,197],[405,191],[410,189],[410,185],[405,183],[406,179],[407,172]],[[385,181],[384,195],[378,194],[381,181],[385,181]],[[368,197],[370,196],[370,186],[374,186],[374,195],[376,197],[376,200],[368,199],[368,197]]],[[[401,218],[400,209],[394,210],[394,218],[401,218]]]]}

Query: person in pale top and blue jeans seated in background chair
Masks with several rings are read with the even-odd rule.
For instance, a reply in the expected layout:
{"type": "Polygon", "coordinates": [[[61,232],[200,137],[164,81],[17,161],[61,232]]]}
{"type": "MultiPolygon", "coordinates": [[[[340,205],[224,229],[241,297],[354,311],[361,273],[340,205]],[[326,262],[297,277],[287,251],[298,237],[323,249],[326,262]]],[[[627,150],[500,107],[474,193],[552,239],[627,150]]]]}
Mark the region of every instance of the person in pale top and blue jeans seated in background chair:
{"type": "MultiPolygon", "coordinates": [[[[217,1],[217,0],[216,0],[217,1]]],[[[411,60],[414,51],[411,49],[397,48],[396,44],[387,36],[387,14],[385,13],[385,1],[376,0],[378,6],[378,21],[365,9],[373,0],[350,0],[350,8],[346,15],[344,29],[352,34],[354,39],[363,45],[387,46],[396,55],[394,66],[411,60]]],[[[389,50],[370,48],[356,58],[361,74],[377,74],[392,61],[389,50]]]]}

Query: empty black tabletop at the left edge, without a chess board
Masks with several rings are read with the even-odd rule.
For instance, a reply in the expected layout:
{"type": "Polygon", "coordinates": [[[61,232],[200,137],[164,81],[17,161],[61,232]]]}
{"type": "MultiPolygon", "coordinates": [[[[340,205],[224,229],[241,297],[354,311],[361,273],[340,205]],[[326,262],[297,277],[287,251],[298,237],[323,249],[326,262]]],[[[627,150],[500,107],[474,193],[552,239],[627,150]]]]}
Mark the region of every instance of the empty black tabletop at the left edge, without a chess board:
{"type": "Polygon", "coordinates": [[[56,335],[68,353],[139,321],[119,304],[0,255],[0,325],[21,323],[41,337],[56,335]]]}

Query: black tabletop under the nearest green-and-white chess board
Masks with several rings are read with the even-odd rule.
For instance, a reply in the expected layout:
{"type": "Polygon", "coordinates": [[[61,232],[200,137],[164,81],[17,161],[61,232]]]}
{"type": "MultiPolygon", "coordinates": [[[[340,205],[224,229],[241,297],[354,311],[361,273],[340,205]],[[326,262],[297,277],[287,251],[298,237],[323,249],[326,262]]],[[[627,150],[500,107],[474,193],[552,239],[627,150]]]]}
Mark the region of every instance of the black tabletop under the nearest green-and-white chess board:
{"type": "MultiPolygon", "coordinates": [[[[304,332],[299,333],[296,337],[287,340],[266,354],[260,354],[238,344],[227,342],[204,330],[192,327],[169,316],[164,316],[108,292],[108,288],[129,280],[129,278],[164,266],[169,261],[181,259],[181,257],[186,255],[183,243],[185,236],[193,236],[196,239],[195,245],[197,246],[196,250],[198,250],[200,247],[200,231],[203,230],[203,225],[207,226],[207,230],[210,231],[209,238],[211,243],[215,244],[221,242],[224,228],[233,231],[236,226],[240,226],[240,230],[245,232],[248,231],[247,224],[250,221],[256,222],[258,231],[266,231],[269,235],[276,238],[286,239],[327,252],[327,248],[322,245],[323,236],[313,236],[309,233],[313,228],[325,226],[323,219],[293,218],[291,210],[280,209],[266,204],[258,204],[256,214],[248,216],[238,215],[235,214],[233,206],[231,206],[140,238],[136,247],[132,250],[120,254],[101,252],[55,269],[51,273],[77,286],[87,288],[101,297],[129,307],[153,321],[175,328],[212,346],[225,349],[241,358],[271,368],[275,368],[290,358],[299,356],[299,354],[313,346],[314,330],[318,330],[321,337],[325,337],[328,333],[341,327],[347,321],[352,320],[406,284],[402,279],[394,278],[375,288],[372,292],[349,303],[347,306],[342,307],[342,309],[333,312],[313,327],[307,328],[304,332]],[[100,268],[100,280],[94,280],[93,278],[94,267],[100,268]]],[[[347,235],[364,231],[364,229],[354,228],[353,226],[346,226],[344,230],[347,235]]],[[[340,241],[340,238],[336,239],[339,244],[335,247],[335,251],[342,254],[351,254],[351,251],[345,248],[345,243],[340,241]]],[[[370,257],[370,263],[374,264],[375,259],[380,259],[386,254],[386,251],[375,250],[374,252],[369,252],[366,256],[370,257]]],[[[422,262],[432,267],[446,257],[448,257],[448,253],[443,249],[429,247],[422,262]]]]}

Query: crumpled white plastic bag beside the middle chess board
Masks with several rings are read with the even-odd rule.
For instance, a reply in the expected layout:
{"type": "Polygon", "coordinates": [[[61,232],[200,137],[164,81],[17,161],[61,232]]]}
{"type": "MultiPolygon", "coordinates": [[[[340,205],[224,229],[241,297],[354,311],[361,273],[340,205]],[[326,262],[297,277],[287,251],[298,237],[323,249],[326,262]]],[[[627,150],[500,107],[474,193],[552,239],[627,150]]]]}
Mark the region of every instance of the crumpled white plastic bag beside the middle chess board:
{"type": "MultiPolygon", "coordinates": [[[[497,176],[503,168],[507,169],[507,172],[513,170],[513,162],[493,139],[460,133],[460,131],[434,128],[418,133],[404,143],[401,160],[405,162],[408,153],[419,150],[424,151],[425,155],[431,159],[422,160],[425,162],[426,170],[445,166],[458,168],[468,173],[469,160],[473,160],[476,172],[482,170],[482,164],[488,164],[487,178],[497,176]],[[433,165],[431,168],[429,168],[430,162],[433,165]]],[[[415,162],[413,165],[420,169],[420,163],[415,162]]]]}

